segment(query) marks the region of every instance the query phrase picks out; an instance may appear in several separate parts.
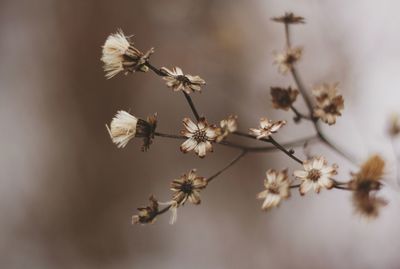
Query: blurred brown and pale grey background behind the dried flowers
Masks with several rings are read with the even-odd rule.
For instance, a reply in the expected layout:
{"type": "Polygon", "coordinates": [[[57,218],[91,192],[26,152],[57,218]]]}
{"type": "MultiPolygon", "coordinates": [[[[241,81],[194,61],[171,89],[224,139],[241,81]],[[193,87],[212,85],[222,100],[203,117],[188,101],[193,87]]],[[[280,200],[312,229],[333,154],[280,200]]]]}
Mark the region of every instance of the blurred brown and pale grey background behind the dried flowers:
{"type": "MultiPolygon", "coordinates": [[[[1,0],[0,267],[399,268],[400,199],[385,135],[388,117],[400,112],[399,7],[395,0],[1,0]],[[284,35],[270,18],[285,11],[307,20],[292,32],[305,48],[306,85],[341,83],[346,108],[328,136],[360,162],[384,156],[390,204],[366,221],[347,192],[294,192],[264,213],[255,195],[265,171],[298,168],[276,152],[241,160],[204,191],[201,206],[180,209],[174,226],[167,215],[132,226],[149,194],[165,201],[172,179],[191,168],[209,176],[237,153],[216,146],[201,160],[163,138],[147,153],[138,140],[117,149],[105,124],[119,109],[158,112],[166,133],[191,113],[151,73],[106,80],[99,60],[106,37],[121,28],[138,48],[155,47],[155,65],[205,78],[193,98],[209,121],[234,113],[246,130],[261,116],[286,119],[278,138],[291,141],[313,129],[270,105],[270,86],[293,86],[272,65],[284,35]]],[[[357,170],[323,146],[310,150],[337,162],[343,180],[357,170]]]]}

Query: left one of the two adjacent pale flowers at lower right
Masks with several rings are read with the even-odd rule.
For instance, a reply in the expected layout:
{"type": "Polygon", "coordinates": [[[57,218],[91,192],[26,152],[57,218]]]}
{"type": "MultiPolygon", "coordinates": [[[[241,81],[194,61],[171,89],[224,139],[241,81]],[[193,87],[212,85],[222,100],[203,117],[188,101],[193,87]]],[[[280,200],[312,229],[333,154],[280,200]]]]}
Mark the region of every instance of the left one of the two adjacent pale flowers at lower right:
{"type": "Polygon", "coordinates": [[[264,200],[263,210],[279,206],[282,199],[290,196],[290,181],[287,175],[287,169],[277,172],[269,169],[264,180],[265,190],[257,195],[257,199],[264,200]]]}

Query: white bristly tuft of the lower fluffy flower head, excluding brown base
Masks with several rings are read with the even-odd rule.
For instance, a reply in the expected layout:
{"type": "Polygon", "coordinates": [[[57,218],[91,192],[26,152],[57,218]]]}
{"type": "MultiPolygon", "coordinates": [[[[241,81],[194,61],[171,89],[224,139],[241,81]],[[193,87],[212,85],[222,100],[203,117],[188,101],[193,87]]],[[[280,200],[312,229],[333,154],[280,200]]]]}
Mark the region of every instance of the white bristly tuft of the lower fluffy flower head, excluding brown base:
{"type": "Polygon", "coordinates": [[[138,119],[126,111],[120,110],[112,119],[108,133],[114,144],[124,148],[129,140],[135,137],[138,119]]]}

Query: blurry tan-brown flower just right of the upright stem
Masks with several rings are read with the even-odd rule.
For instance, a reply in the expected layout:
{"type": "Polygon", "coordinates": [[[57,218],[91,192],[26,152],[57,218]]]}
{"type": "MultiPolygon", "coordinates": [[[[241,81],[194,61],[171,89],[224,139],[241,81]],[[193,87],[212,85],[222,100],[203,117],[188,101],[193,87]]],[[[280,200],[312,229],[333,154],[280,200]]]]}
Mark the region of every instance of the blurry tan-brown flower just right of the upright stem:
{"type": "Polygon", "coordinates": [[[338,95],[338,83],[322,84],[313,89],[313,95],[317,104],[314,108],[314,117],[332,125],[336,123],[336,118],[341,116],[344,109],[344,100],[338,95]]]}

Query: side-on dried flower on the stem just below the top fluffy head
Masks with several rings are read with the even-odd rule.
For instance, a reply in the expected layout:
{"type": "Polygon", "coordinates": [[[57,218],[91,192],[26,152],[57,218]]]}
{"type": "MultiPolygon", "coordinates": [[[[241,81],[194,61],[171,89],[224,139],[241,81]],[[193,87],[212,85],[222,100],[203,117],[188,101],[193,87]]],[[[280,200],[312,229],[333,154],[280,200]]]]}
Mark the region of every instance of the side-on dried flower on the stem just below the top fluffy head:
{"type": "Polygon", "coordinates": [[[174,67],[172,70],[162,67],[161,71],[166,74],[163,79],[167,82],[167,86],[175,92],[185,91],[188,94],[196,91],[200,92],[201,86],[206,84],[199,76],[184,75],[179,67],[174,67]]]}

